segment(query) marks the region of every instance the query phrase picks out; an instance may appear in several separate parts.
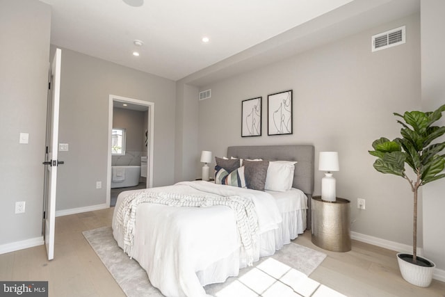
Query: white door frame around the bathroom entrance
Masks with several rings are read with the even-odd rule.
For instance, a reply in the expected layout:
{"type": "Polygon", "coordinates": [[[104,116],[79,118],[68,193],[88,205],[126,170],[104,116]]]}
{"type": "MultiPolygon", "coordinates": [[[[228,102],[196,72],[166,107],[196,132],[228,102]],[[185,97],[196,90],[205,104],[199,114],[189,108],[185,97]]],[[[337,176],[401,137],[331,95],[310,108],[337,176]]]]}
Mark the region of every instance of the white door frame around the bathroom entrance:
{"type": "MultiPolygon", "coordinates": [[[[154,136],[154,103],[146,102],[138,99],[121,97],[117,95],[109,95],[108,102],[108,168],[107,168],[107,192],[106,192],[106,204],[111,203],[111,181],[112,181],[112,131],[113,131],[113,110],[115,106],[120,108],[129,109],[131,111],[147,111],[147,127],[145,129],[145,151],[142,152],[143,156],[146,156],[147,166],[142,166],[141,175],[146,177],[146,188],[152,188],[153,186],[153,136],[154,136]],[[125,106],[124,106],[125,104],[125,106]]],[[[144,161],[145,161],[144,159],[144,161]]],[[[124,188],[122,188],[124,189],[124,188]]]]}

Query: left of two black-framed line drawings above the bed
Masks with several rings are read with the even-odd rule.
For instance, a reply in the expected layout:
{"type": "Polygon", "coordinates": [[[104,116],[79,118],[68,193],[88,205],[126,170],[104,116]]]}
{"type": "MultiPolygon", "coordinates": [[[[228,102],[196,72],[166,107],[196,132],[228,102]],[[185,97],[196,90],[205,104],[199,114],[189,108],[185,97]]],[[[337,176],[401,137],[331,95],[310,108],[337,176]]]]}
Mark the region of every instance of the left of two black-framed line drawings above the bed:
{"type": "Polygon", "coordinates": [[[261,100],[263,97],[241,102],[241,137],[261,136],[261,100]]]}

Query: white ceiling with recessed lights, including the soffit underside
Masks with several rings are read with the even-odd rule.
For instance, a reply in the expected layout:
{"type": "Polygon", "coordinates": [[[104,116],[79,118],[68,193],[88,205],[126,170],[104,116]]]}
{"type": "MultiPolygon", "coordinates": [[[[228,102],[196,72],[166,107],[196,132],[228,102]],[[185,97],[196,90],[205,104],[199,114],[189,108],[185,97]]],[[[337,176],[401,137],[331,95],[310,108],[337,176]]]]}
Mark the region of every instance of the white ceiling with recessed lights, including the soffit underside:
{"type": "Polygon", "coordinates": [[[351,30],[334,24],[365,11],[394,2],[403,10],[413,3],[419,6],[419,0],[144,0],[140,7],[122,0],[40,1],[52,8],[52,45],[173,81],[209,67],[220,73],[240,55],[245,61],[246,55],[267,52],[272,61],[272,56],[282,56],[280,47],[291,40],[307,47],[306,41],[300,42],[305,35],[301,28],[337,28],[329,34],[332,38],[351,30]],[[326,22],[319,22],[322,19],[326,22]],[[310,25],[314,23],[318,28],[310,25]],[[209,42],[202,42],[204,36],[209,42]],[[134,45],[134,40],[143,45],[134,45]],[[133,56],[133,51],[140,56],[133,56]]]}

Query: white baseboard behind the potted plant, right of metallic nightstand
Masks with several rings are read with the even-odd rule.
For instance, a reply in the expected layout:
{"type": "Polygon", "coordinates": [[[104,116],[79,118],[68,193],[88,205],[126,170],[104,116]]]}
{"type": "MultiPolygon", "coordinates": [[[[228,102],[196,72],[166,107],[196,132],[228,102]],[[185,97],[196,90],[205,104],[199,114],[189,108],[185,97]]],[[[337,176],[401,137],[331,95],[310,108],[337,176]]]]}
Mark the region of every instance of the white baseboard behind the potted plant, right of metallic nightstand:
{"type": "MultiPolygon", "coordinates": [[[[395,241],[389,241],[386,239],[380,239],[378,237],[369,236],[357,232],[350,232],[350,237],[357,241],[372,244],[373,246],[380,246],[380,248],[387,248],[388,250],[394,250],[396,252],[406,252],[412,255],[412,246],[407,244],[398,243],[395,241]]],[[[417,248],[417,255],[423,256],[423,248],[417,248]]],[[[432,278],[445,282],[445,270],[435,268],[432,278]]]]}

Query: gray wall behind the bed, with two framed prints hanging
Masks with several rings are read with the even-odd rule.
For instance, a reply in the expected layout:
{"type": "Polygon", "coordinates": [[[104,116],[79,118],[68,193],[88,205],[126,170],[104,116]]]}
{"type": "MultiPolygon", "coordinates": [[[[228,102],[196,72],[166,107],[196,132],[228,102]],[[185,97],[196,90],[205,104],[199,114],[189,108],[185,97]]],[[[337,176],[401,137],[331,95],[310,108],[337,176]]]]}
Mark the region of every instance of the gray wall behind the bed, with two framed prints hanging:
{"type": "MultiPolygon", "coordinates": [[[[352,230],[410,245],[410,188],[400,177],[374,170],[368,150],[380,136],[398,136],[393,112],[421,108],[419,31],[419,15],[413,15],[202,87],[211,88],[212,97],[198,103],[199,147],[225,156],[229,145],[310,143],[316,147],[316,168],[318,152],[338,151],[337,195],[353,202],[352,230]],[[402,25],[405,45],[371,52],[371,35],[402,25]],[[293,134],[267,136],[267,95],[289,89],[293,134]],[[262,136],[241,138],[241,101],[258,96],[263,97],[262,136]],[[357,198],[366,199],[366,210],[357,210],[357,198]]],[[[200,163],[196,168],[199,172],[200,163]]],[[[315,174],[319,195],[323,172],[315,174]]]]}

